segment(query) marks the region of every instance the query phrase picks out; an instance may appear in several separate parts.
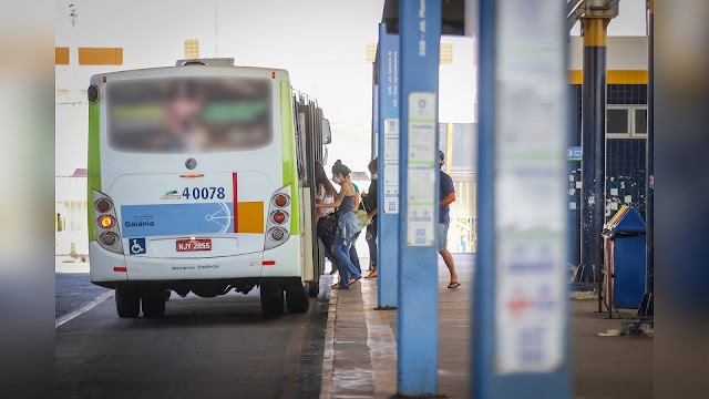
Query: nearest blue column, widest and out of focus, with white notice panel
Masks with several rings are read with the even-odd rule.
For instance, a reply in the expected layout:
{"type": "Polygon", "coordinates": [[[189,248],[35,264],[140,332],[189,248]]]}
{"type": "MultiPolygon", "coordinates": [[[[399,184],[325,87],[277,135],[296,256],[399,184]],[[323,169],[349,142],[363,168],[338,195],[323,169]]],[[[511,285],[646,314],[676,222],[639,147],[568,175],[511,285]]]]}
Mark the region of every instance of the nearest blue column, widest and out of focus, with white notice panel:
{"type": "Polygon", "coordinates": [[[479,10],[471,393],[569,398],[564,2],[480,0],[479,10]]]}

